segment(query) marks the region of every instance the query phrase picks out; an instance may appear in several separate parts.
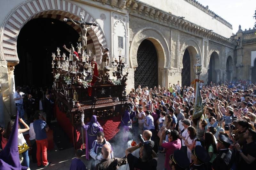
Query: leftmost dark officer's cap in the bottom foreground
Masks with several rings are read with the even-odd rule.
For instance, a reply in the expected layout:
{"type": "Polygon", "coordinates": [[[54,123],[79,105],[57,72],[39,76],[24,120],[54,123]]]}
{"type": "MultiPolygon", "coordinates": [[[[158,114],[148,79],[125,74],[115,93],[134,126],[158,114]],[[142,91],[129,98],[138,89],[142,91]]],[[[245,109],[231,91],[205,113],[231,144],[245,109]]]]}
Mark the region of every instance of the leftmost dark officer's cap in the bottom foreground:
{"type": "Polygon", "coordinates": [[[186,153],[182,152],[181,150],[175,150],[173,154],[170,155],[170,159],[176,165],[180,166],[181,168],[188,168],[189,167],[189,160],[186,153]]]}

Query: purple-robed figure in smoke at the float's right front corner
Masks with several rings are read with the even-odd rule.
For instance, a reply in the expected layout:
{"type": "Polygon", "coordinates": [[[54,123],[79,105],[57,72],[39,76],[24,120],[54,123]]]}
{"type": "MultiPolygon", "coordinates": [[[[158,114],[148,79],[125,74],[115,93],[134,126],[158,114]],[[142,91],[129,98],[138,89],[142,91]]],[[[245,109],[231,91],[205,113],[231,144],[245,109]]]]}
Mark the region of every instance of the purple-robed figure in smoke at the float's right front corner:
{"type": "Polygon", "coordinates": [[[128,141],[129,132],[132,128],[132,119],[136,115],[135,111],[125,110],[121,120],[121,127],[123,128],[123,141],[128,141]]]}

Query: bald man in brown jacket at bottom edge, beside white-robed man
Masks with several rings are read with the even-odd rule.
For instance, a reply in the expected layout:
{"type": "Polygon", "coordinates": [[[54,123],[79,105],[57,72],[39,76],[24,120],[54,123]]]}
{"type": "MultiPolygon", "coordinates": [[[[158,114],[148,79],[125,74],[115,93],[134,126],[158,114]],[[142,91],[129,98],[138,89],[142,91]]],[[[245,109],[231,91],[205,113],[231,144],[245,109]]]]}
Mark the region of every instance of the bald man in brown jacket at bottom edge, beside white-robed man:
{"type": "Polygon", "coordinates": [[[119,166],[125,165],[127,163],[126,158],[110,158],[110,153],[112,152],[111,147],[104,144],[101,149],[102,158],[100,163],[96,165],[95,170],[103,169],[118,169],[119,166]]]}

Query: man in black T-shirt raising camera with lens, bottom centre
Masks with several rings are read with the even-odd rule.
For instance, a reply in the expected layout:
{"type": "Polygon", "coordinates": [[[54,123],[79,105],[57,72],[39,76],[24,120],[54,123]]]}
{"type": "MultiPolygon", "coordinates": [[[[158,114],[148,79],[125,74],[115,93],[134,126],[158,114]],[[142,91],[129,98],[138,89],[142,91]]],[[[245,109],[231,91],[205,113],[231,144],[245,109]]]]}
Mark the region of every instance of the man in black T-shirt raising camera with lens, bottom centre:
{"type": "MultiPolygon", "coordinates": [[[[149,132],[150,133],[150,132],[149,132]]],[[[136,146],[132,146],[125,150],[125,155],[128,160],[130,169],[132,170],[156,170],[158,156],[153,151],[153,143],[151,141],[144,141],[140,135],[142,142],[136,146]],[[140,158],[132,155],[132,152],[139,149],[140,158]]]]}

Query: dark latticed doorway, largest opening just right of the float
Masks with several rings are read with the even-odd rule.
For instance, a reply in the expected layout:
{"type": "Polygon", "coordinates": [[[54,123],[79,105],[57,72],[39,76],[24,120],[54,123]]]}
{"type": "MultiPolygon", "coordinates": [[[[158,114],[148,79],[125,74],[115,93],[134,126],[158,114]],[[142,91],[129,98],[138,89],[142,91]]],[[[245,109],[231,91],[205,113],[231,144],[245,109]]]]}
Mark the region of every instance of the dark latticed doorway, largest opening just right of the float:
{"type": "Polygon", "coordinates": [[[134,86],[153,88],[158,84],[158,62],[154,44],[149,40],[141,42],[137,52],[138,67],[134,72],[134,86]]]}

